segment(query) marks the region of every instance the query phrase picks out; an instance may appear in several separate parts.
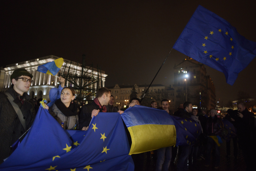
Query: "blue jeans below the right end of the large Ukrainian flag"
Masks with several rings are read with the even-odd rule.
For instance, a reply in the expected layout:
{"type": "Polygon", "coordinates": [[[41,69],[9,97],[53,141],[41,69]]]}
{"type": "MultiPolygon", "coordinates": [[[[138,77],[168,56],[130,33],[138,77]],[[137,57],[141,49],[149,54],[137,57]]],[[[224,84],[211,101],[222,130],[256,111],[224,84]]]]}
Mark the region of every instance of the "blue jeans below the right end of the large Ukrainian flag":
{"type": "Polygon", "coordinates": [[[157,150],[156,171],[162,171],[162,165],[163,165],[163,171],[168,171],[171,159],[172,159],[172,146],[159,148],[157,150]]]}

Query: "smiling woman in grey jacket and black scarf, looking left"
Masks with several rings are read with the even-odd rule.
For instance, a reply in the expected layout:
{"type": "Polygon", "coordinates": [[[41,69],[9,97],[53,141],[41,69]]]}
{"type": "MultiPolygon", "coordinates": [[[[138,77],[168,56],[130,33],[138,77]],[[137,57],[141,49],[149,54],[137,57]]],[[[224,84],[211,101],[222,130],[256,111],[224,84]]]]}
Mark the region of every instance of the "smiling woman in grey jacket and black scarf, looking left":
{"type": "Polygon", "coordinates": [[[75,91],[73,88],[65,87],[61,91],[61,98],[56,100],[49,108],[49,113],[58,121],[58,123],[64,123],[64,129],[76,129],[78,123],[78,105],[73,103],[74,99],[75,91]]]}

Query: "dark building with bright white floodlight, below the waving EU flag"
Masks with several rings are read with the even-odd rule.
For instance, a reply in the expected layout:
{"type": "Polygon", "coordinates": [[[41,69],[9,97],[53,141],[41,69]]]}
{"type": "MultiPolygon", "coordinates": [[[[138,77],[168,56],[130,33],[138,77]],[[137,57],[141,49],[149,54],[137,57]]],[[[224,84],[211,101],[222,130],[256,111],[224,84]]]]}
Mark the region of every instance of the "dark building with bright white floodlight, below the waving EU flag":
{"type": "Polygon", "coordinates": [[[175,106],[189,101],[195,108],[216,108],[215,86],[204,64],[190,57],[175,65],[173,88],[175,106]]]}

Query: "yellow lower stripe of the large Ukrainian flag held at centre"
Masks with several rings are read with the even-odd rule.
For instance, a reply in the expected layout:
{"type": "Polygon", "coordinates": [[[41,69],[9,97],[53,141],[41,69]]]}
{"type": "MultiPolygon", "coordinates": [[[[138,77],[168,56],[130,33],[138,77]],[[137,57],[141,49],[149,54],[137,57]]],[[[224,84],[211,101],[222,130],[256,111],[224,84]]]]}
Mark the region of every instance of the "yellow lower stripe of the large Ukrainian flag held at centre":
{"type": "Polygon", "coordinates": [[[128,130],[132,140],[129,155],[176,144],[175,125],[136,125],[129,127],[128,130]]]}

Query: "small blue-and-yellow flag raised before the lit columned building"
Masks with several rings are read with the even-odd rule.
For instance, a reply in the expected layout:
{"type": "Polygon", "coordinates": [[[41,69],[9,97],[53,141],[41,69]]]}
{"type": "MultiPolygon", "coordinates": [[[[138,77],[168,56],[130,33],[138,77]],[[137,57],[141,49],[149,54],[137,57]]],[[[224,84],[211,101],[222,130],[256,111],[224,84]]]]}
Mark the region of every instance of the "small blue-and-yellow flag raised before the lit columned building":
{"type": "Polygon", "coordinates": [[[58,58],[57,60],[38,66],[37,71],[50,75],[56,75],[63,63],[63,58],[58,58]]]}

